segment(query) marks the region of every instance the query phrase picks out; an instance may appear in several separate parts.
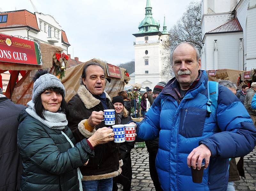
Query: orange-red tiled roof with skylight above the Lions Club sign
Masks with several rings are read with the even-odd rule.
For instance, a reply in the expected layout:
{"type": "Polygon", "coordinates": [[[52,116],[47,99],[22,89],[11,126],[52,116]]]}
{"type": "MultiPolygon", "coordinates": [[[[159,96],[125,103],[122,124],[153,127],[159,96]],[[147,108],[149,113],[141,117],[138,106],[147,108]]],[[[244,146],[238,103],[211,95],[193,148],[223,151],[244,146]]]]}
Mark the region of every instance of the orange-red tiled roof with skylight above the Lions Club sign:
{"type": "Polygon", "coordinates": [[[0,15],[8,15],[6,23],[0,23],[0,28],[30,26],[40,31],[36,21],[36,15],[27,10],[1,12],[0,15]]]}

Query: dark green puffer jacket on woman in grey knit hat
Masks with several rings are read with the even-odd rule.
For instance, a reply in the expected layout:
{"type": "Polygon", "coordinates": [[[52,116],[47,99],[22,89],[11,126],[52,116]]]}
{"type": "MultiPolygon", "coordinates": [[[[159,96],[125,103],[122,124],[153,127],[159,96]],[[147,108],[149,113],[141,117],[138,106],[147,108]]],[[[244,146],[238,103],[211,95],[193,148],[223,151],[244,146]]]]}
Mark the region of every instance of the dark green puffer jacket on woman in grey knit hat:
{"type": "Polygon", "coordinates": [[[22,156],[20,190],[77,191],[77,167],[94,156],[86,141],[76,143],[71,130],[63,132],[74,143],[72,148],[60,130],[53,130],[22,110],[18,120],[18,147],[22,156]]]}

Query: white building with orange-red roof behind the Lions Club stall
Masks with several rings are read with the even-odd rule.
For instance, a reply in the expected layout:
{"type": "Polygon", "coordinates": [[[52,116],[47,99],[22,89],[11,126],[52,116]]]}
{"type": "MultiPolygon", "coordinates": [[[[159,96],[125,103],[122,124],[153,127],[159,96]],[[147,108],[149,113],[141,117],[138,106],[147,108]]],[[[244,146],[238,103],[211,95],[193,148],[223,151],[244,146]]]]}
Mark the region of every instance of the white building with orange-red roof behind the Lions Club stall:
{"type": "Polygon", "coordinates": [[[59,46],[65,54],[70,46],[60,24],[51,15],[38,12],[0,12],[0,33],[59,46]]]}

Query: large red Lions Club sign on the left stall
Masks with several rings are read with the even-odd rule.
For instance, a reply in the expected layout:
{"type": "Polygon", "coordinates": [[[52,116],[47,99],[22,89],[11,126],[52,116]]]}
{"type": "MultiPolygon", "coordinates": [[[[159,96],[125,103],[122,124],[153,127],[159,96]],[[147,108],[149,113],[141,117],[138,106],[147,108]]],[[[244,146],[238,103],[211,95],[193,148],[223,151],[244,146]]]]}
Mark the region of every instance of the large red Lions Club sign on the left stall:
{"type": "Polygon", "coordinates": [[[39,42],[0,35],[0,61],[43,65],[39,42]]]}

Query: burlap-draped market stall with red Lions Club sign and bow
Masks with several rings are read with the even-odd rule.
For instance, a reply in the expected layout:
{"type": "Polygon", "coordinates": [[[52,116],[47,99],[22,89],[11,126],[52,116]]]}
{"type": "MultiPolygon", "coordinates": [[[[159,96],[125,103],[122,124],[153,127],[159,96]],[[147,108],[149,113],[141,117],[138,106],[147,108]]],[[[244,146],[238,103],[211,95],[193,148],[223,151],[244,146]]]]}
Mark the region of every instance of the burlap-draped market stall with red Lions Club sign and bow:
{"type": "Polygon", "coordinates": [[[60,47],[0,33],[0,74],[10,72],[5,96],[17,104],[26,105],[31,100],[32,79],[38,70],[49,69],[52,74],[59,71],[61,76],[64,64],[67,66],[68,60],[62,58],[60,47]]]}

